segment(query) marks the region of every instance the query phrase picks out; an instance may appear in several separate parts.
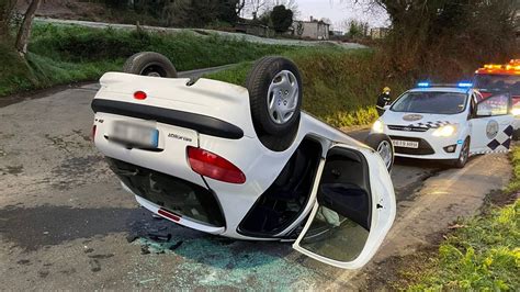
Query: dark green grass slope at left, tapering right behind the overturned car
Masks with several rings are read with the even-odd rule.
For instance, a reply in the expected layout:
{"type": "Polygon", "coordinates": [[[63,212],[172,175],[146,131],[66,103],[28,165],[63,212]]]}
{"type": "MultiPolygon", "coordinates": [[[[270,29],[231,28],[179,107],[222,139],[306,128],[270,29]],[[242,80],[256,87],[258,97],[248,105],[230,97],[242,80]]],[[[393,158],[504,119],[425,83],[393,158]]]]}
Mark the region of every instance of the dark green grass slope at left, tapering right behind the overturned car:
{"type": "Polygon", "coordinates": [[[304,49],[253,44],[214,34],[92,29],[34,24],[26,63],[0,41],[0,97],[75,81],[95,80],[118,70],[131,55],[155,50],[169,57],[180,71],[247,60],[269,54],[304,49]]]}

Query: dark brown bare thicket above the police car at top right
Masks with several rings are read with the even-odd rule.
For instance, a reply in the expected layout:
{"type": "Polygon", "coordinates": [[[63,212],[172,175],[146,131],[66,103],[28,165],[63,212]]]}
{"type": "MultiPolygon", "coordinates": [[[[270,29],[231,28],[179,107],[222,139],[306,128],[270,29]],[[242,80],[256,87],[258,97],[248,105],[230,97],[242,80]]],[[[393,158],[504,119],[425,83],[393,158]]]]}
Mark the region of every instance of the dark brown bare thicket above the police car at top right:
{"type": "Polygon", "coordinates": [[[387,12],[392,26],[384,53],[398,71],[449,81],[518,54],[518,0],[359,1],[387,12]]]}

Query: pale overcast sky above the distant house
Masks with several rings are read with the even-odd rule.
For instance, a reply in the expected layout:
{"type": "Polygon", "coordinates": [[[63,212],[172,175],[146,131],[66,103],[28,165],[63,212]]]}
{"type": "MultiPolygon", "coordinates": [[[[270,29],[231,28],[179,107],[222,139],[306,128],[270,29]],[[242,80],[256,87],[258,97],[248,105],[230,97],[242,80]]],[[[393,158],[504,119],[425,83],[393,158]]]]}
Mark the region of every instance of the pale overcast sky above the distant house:
{"type": "Polygon", "coordinates": [[[357,19],[369,22],[370,26],[387,26],[389,24],[386,12],[382,9],[369,9],[366,1],[359,1],[354,4],[353,0],[296,0],[299,14],[297,19],[308,20],[330,19],[335,30],[343,30],[341,23],[347,19],[357,19]]]}

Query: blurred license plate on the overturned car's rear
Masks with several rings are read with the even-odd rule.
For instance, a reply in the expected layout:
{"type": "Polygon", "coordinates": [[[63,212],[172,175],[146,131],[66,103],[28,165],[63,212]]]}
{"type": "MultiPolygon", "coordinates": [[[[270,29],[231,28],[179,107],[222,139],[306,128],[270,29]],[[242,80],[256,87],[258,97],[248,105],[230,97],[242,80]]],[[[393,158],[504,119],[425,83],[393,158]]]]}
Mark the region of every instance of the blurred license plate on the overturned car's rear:
{"type": "Polygon", "coordinates": [[[157,128],[124,121],[113,123],[109,138],[127,146],[143,148],[157,148],[159,146],[159,131],[157,128]]]}

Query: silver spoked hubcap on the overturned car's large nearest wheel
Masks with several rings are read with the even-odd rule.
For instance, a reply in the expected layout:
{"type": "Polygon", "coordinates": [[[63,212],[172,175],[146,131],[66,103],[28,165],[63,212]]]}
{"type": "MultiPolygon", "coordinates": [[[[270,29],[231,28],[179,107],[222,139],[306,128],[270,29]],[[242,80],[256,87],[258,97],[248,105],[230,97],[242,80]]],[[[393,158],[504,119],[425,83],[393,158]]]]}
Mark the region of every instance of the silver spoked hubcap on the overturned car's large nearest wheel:
{"type": "Polygon", "coordinates": [[[293,117],[298,104],[298,81],[293,72],[283,70],[274,76],[268,90],[269,117],[276,124],[285,124],[293,117]]]}

